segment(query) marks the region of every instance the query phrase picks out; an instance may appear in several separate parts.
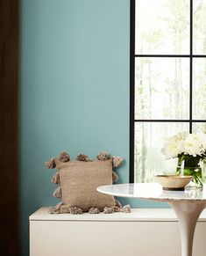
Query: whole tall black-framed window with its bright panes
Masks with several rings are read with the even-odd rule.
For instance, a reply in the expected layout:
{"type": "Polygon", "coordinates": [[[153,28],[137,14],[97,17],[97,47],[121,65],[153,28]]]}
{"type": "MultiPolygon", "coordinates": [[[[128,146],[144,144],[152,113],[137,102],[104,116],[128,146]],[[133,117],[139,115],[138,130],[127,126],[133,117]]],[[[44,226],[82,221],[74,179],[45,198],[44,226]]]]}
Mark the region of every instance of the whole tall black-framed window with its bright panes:
{"type": "Polygon", "coordinates": [[[206,0],[131,0],[131,182],[174,172],[177,132],[206,132],[206,0]]]}

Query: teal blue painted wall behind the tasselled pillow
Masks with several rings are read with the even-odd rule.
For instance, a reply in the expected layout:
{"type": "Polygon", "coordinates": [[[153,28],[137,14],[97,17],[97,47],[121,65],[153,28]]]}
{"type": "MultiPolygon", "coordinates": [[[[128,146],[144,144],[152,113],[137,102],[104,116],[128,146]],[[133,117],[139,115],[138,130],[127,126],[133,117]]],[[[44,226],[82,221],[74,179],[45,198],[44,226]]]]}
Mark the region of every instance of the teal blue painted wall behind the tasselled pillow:
{"type": "Polygon", "coordinates": [[[22,0],[21,26],[21,255],[28,255],[28,216],[57,203],[46,159],[108,150],[125,157],[119,181],[129,180],[130,1],[22,0]]]}

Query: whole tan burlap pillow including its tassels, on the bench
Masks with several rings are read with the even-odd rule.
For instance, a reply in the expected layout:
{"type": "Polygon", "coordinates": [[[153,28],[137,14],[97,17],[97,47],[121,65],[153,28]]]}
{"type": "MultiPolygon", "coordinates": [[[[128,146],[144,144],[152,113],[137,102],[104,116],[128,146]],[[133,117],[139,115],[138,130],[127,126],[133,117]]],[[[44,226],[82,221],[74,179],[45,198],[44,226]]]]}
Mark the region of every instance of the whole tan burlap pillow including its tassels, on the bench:
{"type": "Polygon", "coordinates": [[[114,196],[96,191],[96,187],[111,185],[117,181],[117,173],[112,167],[117,168],[124,158],[110,157],[107,152],[100,152],[96,158],[97,160],[90,160],[87,155],[80,154],[76,160],[70,160],[67,152],[62,152],[59,157],[51,158],[46,162],[48,169],[57,169],[52,182],[60,185],[55,189],[53,196],[60,198],[61,202],[51,207],[50,213],[130,212],[131,207],[122,207],[114,196]]]}

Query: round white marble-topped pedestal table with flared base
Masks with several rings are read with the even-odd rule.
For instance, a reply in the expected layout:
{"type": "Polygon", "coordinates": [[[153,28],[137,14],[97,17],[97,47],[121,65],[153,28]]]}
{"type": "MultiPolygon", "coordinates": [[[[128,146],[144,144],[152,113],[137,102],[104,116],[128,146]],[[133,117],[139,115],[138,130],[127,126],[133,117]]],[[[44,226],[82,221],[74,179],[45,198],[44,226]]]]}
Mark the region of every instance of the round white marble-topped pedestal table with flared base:
{"type": "Polygon", "coordinates": [[[158,183],[130,183],[97,187],[103,194],[166,201],[176,213],[181,230],[181,256],[192,256],[196,222],[206,207],[206,187],[184,191],[163,190],[158,183]]]}

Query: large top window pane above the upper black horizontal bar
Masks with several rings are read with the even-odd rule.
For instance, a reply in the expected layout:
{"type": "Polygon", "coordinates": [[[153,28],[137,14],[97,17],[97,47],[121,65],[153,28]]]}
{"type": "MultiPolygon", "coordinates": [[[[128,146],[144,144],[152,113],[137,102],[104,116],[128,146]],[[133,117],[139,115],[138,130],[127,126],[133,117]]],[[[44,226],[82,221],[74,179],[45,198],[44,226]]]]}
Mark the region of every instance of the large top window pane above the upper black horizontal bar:
{"type": "Polygon", "coordinates": [[[136,0],[136,54],[189,53],[189,0],[136,0]]]}

